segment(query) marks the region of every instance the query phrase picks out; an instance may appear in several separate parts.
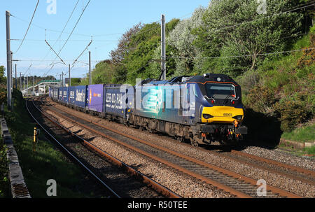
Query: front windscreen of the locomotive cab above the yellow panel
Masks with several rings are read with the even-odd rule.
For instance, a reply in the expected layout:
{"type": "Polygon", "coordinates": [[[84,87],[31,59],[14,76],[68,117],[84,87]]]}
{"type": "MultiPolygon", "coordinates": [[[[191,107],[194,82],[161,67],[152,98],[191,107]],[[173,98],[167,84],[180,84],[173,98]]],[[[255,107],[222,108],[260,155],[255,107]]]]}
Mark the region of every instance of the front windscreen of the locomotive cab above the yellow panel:
{"type": "Polygon", "coordinates": [[[235,99],[235,86],[231,84],[206,84],[207,96],[214,99],[235,99]]]}

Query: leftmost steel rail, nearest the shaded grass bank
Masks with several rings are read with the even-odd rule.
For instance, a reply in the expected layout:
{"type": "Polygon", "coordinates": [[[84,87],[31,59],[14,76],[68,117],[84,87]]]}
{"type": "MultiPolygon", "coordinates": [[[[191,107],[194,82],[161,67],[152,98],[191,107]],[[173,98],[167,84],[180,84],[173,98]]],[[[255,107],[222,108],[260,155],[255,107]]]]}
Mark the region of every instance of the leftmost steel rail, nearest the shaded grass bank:
{"type": "MultiPolygon", "coordinates": [[[[36,118],[34,117],[34,115],[31,114],[31,111],[29,110],[29,107],[27,106],[27,102],[28,102],[28,101],[29,101],[29,99],[27,99],[27,101],[25,101],[25,106],[26,106],[26,108],[27,108],[27,111],[29,112],[29,115],[31,115],[31,118],[33,118],[34,121],[41,127],[41,129],[43,129],[43,130],[50,136],[51,139],[53,139],[60,147],[62,147],[62,149],[63,149],[64,151],[66,151],[66,153],[68,153],[74,160],[76,160],[76,162],[78,162],[78,164],[80,164],[81,167],[83,167],[83,168],[84,168],[86,171],[88,171],[92,176],[94,176],[94,178],[96,178],[97,181],[99,181],[99,183],[101,183],[102,185],[104,185],[115,197],[121,198],[115,191],[113,191],[113,190],[109,187],[109,185],[106,185],[106,183],[104,183],[104,181],[102,181],[96,174],[94,174],[93,171],[91,171],[89,168],[87,168],[87,167],[85,166],[85,164],[83,164],[82,162],[80,162],[80,160],[78,160],[78,158],[77,158],[75,155],[73,155],[72,153],[70,153],[70,151],[69,151],[66,147],[64,147],[64,146],[62,145],[62,143],[60,143],[59,141],[57,141],[57,139],[55,139],[55,137],[52,136],[52,134],[50,134],[50,133],[45,129],[45,127],[43,127],[43,125],[41,125],[41,123],[38,122],[38,120],[36,120],[36,118]]],[[[33,100],[32,100],[32,102],[33,102],[33,104],[34,104],[34,107],[35,107],[38,111],[42,112],[39,108],[36,107],[36,105],[35,105],[35,103],[34,103],[33,100]]]]}

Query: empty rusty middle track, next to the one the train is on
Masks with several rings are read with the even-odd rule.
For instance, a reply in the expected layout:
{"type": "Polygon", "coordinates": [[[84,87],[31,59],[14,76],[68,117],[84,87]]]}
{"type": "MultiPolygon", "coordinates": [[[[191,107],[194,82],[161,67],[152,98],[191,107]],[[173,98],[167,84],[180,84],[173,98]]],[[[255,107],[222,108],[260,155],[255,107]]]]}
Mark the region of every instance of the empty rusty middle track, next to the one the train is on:
{"type": "MultiPolygon", "coordinates": [[[[216,167],[214,165],[196,160],[193,157],[176,153],[162,146],[157,146],[153,143],[148,143],[142,139],[138,139],[134,136],[124,134],[116,129],[110,129],[104,125],[100,125],[97,122],[92,122],[82,117],[70,114],[60,108],[54,108],[50,105],[51,110],[55,115],[63,118],[73,124],[80,125],[85,129],[90,130],[100,136],[105,137],[119,143],[121,146],[130,148],[141,155],[162,162],[169,167],[172,167],[185,174],[200,179],[206,183],[216,186],[236,197],[258,197],[257,193],[257,181],[241,176],[232,171],[216,167]]],[[[271,185],[267,185],[267,197],[299,197],[293,193],[275,188],[271,185]]]]}

